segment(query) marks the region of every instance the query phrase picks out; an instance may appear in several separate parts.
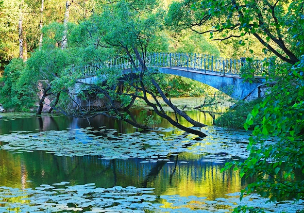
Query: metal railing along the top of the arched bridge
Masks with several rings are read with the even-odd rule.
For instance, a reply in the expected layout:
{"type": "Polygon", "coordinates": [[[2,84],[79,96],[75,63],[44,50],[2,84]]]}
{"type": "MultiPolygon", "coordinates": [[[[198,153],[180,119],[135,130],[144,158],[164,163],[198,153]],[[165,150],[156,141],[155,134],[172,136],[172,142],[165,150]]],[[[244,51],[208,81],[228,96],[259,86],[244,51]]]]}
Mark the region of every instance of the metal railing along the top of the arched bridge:
{"type": "MultiPolygon", "coordinates": [[[[187,70],[191,69],[203,73],[220,75],[240,75],[242,67],[247,66],[252,66],[258,71],[255,75],[261,75],[265,69],[263,62],[260,60],[255,60],[248,64],[245,58],[229,59],[200,53],[147,53],[145,63],[147,67],[181,67],[187,70]]],[[[137,59],[135,60],[135,66],[141,66],[137,59]]],[[[102,64],[84,66],[82,73],[85,77],[94,76],[98,69],[111,67],[129,69],[132,68],[132,64],[127,58],[117,57],[102,64]]]]}

